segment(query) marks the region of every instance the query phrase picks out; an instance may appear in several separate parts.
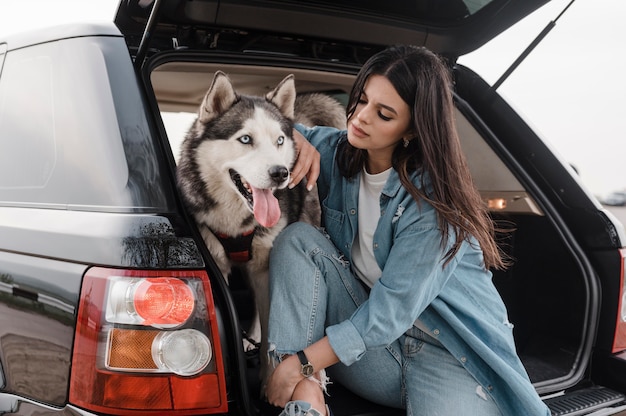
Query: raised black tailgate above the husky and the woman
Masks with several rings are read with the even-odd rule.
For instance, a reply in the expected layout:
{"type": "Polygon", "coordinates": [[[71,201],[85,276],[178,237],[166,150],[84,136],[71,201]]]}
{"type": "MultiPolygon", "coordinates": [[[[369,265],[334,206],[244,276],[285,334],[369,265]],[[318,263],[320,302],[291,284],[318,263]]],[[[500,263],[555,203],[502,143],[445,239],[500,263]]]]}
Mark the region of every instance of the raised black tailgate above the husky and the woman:
{"type": "MultiPolygon", "coordinates": [[[[345,45],[423,45],[456,59],[549,0],[162,0],[152,40],[216,28],[244,32],[247,44],[276,35],[345,45]]],[[[138,47],[153,0],[122,0],[115,22],[138,47]]],[[[215,40],[213,38],[213,40],[215,40]]],[[[211,39],[207,39],[210,42],[211,39]]],[[[158,44],[158,43],[157,43],[158,44]]]]}

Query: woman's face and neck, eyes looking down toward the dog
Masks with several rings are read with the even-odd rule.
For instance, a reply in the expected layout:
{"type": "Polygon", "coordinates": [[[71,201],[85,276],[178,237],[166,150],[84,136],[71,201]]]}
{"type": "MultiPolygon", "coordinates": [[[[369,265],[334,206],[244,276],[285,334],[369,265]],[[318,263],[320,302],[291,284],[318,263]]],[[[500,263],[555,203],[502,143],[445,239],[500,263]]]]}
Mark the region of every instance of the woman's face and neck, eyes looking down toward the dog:
{"type": "Polygon", "coordinates": [[[393,150],[410,137],[411,109],[389,80],[371,75],[365,82],[352,117],[348,119],[348,141],[367,150],[367,171],[379,173],[391,167],[393,150]]]}

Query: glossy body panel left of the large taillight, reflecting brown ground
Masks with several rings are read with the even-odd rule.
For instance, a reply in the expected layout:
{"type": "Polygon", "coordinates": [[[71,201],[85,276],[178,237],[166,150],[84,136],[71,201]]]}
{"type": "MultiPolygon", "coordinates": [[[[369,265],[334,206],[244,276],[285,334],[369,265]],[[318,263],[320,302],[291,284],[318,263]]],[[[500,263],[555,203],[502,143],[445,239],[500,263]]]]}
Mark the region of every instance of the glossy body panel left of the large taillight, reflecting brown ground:
{"type": "Polygon", "coordinates": [[[74,313],[85,268],[0,252],[4,391],[57,406],[66,403],[74,313]]]}

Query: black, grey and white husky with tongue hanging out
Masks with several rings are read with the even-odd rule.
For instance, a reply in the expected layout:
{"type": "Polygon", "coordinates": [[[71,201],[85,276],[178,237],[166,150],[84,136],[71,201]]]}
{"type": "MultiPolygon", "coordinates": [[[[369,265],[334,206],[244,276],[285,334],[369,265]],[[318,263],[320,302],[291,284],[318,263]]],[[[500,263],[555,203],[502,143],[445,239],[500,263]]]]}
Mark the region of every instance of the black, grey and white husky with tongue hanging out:
{"type": "Polygon", "coordinates": [[[249,277],[258,317],[249,335],[261,341],[262,379],[268,365],[269,251],[287,224],[317,225],[320,220],[316,190],[307,192],[304,181],[287,189],[297,152],[293,124],[345,128],[344,109],[336,100],[296,95],[292,75],[265,97],[256,97],[238,94],[228,76],[217,71],[178,162],[184,202],[222,274],[228,279],[238,264],[249,277]],[[232,260],[216,237],[237,238],[251,231],[251,258],[245,262],[232,260]]]}

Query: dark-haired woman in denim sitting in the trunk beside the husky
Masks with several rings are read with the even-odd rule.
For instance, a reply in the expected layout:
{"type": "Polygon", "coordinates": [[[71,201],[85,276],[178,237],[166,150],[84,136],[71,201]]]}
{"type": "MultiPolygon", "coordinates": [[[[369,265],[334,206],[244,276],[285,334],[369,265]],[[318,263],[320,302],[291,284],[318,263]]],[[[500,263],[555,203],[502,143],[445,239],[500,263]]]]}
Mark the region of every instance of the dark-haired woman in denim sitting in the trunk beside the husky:
{"type": "Polygon", "coordinates": [[[297,126],[317,151],[296,135],[294,182],[319,169],[325,228],[289,226],[270,259],[266,393],[282,414],[329,413],[326,369],[407,415],[550,414],[491,281],[507,261],[461,151],[451,84],[432,52],[390,47],[357,75],[347,132],[297,126]]]}

